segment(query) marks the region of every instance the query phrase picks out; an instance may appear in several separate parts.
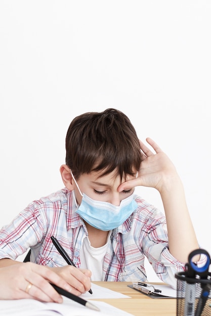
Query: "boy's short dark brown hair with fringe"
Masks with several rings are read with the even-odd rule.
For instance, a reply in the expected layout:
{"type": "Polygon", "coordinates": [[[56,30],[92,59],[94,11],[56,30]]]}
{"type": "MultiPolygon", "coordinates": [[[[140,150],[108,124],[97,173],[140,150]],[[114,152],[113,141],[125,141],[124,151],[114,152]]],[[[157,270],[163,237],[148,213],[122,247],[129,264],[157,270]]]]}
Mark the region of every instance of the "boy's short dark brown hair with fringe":
{"type": "Polygon", "coordinates": [[[66,165],[75,178],[83,173],[117,169],[122,179],[140,167],[140,144],[129,118],[115,109],[88,112],[70,123],[66,136],[66,165]]]}

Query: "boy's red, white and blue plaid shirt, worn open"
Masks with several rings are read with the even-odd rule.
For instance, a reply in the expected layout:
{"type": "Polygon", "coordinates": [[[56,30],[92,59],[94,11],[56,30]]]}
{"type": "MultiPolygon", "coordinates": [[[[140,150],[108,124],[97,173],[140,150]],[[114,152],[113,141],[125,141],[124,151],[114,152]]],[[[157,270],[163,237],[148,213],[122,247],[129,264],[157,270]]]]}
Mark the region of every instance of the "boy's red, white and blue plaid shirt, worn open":
{"type": "MultiPolygon", "coordinates": [[[[146,256],[157,276],[175,287],[175,273],[184,270],[184,263],[168,250],[165,217],[141,197],[135,195],[135,200],[135,212],[111,233],[103,281],[146,281],[146,256]]],[[[49,267],[65,266],[66,261],[51,241],[53,235],[79,268],[81,244],[88,232],[75,210],[72,192],[66,188],[33,201],[0,231],[0,259],[16,259],[31,248],[31,261],[49,267]]]]}

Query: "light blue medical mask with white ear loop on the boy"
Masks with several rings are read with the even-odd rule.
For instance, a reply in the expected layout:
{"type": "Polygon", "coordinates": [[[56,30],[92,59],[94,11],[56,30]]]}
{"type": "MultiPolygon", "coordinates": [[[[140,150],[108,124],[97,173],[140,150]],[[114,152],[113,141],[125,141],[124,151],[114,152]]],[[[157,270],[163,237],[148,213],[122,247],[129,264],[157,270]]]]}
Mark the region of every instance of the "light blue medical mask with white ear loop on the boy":
{"type": "Polygon", "coordinates": [[[120,226],[131,216],[138,206],[137,202],[134,200],[134,194],[124,198],[119,206],[115,206],[108,202],[94,200],[85,193],[81,193],[72,172],[71,175],[82,196],[81,203],[77,207],[76,213],[88,224],[99,230],[109,231],[120,226]]]}

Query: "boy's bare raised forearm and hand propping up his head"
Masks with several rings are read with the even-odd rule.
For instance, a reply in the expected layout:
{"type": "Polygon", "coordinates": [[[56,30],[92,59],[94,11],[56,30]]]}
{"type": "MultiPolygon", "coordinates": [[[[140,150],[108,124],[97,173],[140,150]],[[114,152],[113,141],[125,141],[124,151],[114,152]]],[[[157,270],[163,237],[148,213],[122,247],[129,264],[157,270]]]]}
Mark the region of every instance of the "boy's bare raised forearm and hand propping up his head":
{"type": "Polygon", "coordinates": [[[138,177],[122,183],[118,190],[142,185],[159,191],[165,211],[169,250],[179,261],[187,262],[189,253],[199,245],[188,212],[183,184],[167,155],[152,139],[147,138],[147,142],[155,154],[140,141],[142,162],[138,177]]]}

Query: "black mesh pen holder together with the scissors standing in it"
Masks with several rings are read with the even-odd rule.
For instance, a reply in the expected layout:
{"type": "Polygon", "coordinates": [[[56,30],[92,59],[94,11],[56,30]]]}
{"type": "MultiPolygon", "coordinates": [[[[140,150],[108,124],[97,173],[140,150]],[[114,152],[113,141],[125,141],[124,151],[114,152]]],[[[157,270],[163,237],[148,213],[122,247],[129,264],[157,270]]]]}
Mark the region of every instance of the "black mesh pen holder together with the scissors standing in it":
{"type": "Polygon", "coordinates": [[[186,271],[176,273],[177,279],[177,316],[211,315],[211,273],[208,272],[210,256],[204,249],[192,251],[188,258],[186,271]],[[206,262],[197,267],[192,258],[204,254],[206,262]]]}

